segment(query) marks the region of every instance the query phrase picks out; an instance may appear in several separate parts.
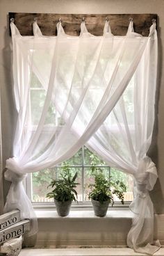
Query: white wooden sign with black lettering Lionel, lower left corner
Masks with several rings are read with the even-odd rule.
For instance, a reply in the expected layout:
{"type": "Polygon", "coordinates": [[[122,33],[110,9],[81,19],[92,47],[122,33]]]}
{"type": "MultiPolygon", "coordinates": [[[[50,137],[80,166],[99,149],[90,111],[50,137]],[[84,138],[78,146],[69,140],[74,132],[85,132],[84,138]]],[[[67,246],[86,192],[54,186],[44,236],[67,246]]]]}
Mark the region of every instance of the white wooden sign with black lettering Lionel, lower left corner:
{"type": "Polygon", "coordinates": [[[20,221],[11,227],[7,227],[0,232],[0,245],[13,238],[19,237],[30,230],[30,221],[20,221]]]}

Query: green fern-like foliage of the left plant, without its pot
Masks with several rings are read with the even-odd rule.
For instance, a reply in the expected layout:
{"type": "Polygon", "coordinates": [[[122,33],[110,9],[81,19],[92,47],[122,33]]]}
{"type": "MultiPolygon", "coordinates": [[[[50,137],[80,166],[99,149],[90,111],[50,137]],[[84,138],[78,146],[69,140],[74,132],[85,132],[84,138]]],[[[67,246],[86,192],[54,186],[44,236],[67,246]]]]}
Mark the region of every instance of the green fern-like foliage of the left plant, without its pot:
{"type": "MultiPolygon", "coordinates": [[[[53,191],[47,193],[47,198],[54,198],[57,201],[65,202],[69,200],[77,201],[77,192],[75,190],[79,183],[76,182],[77,172],[73,175],[69,166],[63,166],[60,171],[60,177],[58,179],[53,179],[49,186],[51,186],[53,191]]],[[[48,186],[48,187],[49,187],[48,186]]]]}

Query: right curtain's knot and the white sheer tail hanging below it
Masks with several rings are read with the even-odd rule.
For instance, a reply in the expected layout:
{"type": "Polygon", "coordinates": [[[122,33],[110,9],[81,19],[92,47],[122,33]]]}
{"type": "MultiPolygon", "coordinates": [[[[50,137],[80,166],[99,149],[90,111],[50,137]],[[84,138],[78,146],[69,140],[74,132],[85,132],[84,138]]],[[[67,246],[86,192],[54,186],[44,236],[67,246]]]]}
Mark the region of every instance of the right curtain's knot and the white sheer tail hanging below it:
{"type": "Polygon", "coordinates": [[[134,199],[129,206],[134,216],[127,244],[138,253],[153,255],[160,248],[159,244],[154,246],[154,207],[149,196],[158,177],[154,162],[149,157],[143,158],[134,177],[134,199]]]}

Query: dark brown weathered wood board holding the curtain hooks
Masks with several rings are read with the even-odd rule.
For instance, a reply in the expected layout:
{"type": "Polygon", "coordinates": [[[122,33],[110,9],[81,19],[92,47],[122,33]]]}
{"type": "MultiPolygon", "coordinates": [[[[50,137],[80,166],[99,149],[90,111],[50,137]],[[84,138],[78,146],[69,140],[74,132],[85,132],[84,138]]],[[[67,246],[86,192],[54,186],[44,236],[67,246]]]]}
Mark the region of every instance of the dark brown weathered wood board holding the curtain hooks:
{"type": "Polygon", "coordinates": [[[156,14],[55,14],[55,13],[9,13],[9,21],[13,17],[15,25],[22,35],[33,35],[32,24],[37,17],[38,26],[43,35],[56,35],[56,24],[60,18],[69,35],[79,35],[80,24],[85,17],[88,31],[94,35],[102,35],[106,17],[110,20],[110,26],[114,35],[126,35],[129,26],[129,18],[133,18],[136,33],[149,35],[149,27],[152,19],[157,19],[156,14]]]}

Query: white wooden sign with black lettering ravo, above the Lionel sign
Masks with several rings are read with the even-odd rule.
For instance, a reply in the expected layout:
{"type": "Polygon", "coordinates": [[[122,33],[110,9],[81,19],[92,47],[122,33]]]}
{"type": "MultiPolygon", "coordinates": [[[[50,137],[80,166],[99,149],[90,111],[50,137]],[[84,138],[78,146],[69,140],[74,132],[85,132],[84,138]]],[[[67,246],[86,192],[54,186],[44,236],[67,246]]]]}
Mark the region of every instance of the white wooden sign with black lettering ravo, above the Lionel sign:
{"type": "Polygon", "coordinates": [[[0,231],[20,221],[20,211],[13,210],[0,216],[0,231]]]}

